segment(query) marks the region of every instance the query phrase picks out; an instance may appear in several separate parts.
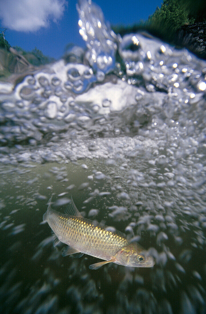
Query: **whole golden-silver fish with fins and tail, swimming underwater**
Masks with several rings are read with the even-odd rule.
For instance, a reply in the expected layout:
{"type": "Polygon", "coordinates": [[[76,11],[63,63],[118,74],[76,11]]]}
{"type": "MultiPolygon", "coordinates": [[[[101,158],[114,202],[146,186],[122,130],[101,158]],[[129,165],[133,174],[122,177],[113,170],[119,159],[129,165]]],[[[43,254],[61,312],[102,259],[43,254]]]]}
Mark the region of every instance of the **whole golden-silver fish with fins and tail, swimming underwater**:
{"type": "Polygon", "coordinates": [[[63,256],[75,254],[81,257],[88,254],[104,260],[90,265],[90,269],[98,269],[107,263],[128,267],[154,266],[154,258],[138,243],[128,241],[124,233],[111,232],[106,225],[84,218],[72,197],[65,214],[51,208],[51,200],[52,197],[48,201],[43,222],[47,222],[57,236],[54,246],[59,242],[67,244],[63,256]]]}

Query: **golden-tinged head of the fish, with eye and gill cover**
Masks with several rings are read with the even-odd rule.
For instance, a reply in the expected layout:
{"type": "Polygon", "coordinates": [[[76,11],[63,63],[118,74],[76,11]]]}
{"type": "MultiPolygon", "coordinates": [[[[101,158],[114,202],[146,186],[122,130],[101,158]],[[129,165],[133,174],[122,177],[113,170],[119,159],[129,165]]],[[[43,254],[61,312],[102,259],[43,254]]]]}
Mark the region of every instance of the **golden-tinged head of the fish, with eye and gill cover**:
{"type": "Polygon", "coordinates": [[[154,258],[137,243],[131,243],[121,248],[115,256],[117,264],[131,267],[153,267],[154,258]]]}

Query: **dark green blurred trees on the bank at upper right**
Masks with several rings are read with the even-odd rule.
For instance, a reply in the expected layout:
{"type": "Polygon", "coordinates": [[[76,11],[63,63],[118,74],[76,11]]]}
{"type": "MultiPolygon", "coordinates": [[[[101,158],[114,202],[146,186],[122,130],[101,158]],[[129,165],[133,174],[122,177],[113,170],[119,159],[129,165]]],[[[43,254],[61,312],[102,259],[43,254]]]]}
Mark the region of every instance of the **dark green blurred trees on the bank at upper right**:
{"type": "Polygon", "coordinates": [[[206,21],[205,0],[163,0],[161,8],[149,16],[147,21],[140,21],[133,26],[114,26],[115,33],[126,33],[147,30],[167,42],[175,41],[175,32],[185,24],[206,21]]]}

